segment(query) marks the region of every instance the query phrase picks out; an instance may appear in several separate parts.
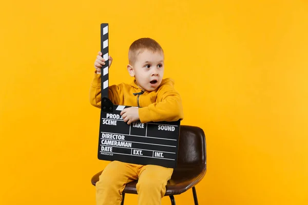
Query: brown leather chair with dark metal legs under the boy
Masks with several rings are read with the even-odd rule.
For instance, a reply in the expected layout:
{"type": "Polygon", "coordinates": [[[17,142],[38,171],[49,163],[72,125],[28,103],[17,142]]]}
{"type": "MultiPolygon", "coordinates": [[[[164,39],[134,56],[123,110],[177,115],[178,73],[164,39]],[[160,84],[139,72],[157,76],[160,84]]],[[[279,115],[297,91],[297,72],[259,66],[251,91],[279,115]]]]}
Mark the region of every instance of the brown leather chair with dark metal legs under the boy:
{"type": "MultiPolygon", "coordinates": [[[[92,185],[99,180],[103,171],[95,174],[92,185]]],[[[206,173],[206,142],[205,135],[201,128],[193,126],[181,126],[178,149],[178,165],[174,169],[171,179],[166,186],[165,196],[169,196],[171,204],[176,204],[174,195],[182,194],[192,188],[195,204],[198,205],[195,186],[206,173]]],[[[128,183],[122,193],[124,204],[125,194],[137,194],[137,181],[128,183]]]]}

